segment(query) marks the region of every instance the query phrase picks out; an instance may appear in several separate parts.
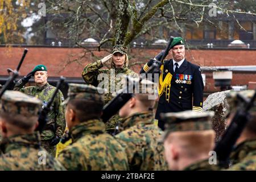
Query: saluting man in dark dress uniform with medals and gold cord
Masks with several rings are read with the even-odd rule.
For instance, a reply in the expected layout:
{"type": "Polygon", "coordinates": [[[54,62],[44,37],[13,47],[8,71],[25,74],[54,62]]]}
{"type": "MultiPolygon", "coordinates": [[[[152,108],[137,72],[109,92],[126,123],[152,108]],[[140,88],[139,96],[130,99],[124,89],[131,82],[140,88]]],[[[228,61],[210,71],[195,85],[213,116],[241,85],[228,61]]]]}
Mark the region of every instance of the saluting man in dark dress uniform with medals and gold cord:
{"type": "MultiPolygon", "coordinates": [[[[171,60],[164,61],[159,76],[159,101],[155,118],[164,130],[160,113],[184,110],[203,111],[204,84],[200,67],[185,59],[185,46],[182,38],[176,37],[171,43],[171,60]]],[[[154,60],[144,65],[140,73],[148,71],[154,60]]]]}

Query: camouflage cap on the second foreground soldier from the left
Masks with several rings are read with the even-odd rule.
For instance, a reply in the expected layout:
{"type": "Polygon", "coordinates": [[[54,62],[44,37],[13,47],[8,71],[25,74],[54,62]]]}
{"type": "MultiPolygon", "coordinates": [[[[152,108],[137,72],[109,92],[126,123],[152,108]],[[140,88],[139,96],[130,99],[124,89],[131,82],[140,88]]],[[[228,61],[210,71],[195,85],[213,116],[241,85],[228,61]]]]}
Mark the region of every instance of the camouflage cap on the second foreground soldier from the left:
{"type": "Polygon", "coordinates": [[[63,102],[63,105],[75,98],[104,102],[105,89],[85,84],[68,84],[68,86],[68,98],[63,102]]]}

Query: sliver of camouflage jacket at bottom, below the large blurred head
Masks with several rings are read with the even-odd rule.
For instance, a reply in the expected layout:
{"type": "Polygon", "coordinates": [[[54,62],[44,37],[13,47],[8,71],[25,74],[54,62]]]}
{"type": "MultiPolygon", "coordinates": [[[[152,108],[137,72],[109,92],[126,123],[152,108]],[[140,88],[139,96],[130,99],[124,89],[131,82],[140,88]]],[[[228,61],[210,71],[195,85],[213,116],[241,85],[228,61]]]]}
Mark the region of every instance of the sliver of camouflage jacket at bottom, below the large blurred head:
{"type": "Polygon", "coordinates": [[[209,159],[204,159],[185,167],[183,171],[219,171],[220,169],[217,164],[209,164],[209,159]]]}

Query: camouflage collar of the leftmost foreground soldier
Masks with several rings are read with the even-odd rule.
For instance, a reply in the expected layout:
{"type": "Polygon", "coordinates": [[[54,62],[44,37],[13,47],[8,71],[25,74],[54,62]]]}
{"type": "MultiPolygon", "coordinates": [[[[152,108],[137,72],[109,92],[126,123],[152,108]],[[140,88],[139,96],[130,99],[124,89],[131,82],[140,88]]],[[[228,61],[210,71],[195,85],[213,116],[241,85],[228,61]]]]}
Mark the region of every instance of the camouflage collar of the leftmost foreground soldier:
{"type": "Polygon", "coordinates": [[[40,148],[40,134],[35,132],[33,134],[14,135],[4,138],[1,143],[1,150],[7,153],[11,150],[18,150],[22,146],[40,148]]]}

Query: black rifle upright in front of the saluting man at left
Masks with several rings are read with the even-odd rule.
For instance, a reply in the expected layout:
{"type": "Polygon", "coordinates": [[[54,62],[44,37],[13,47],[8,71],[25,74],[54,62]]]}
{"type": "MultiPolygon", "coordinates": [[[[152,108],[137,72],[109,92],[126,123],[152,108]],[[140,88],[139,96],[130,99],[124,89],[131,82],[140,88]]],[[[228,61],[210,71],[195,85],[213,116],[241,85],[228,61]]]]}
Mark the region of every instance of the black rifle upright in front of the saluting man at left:
{"type": "Polygon", "coordinates": [[[52,102],[54,101],[54,98],[55,98],[56,94],[58,93],[60,86],[63,84],[64,81],[65,81],[65,78],[63,76],[61,76],[60,80],[57,82],[57,86],[52,94],[52,97],[49,99],[49,102],[47,103],[47,105],[43,106],[43,109],[41,110],[41,112],[39,114],[39,118],[38,118],[39,125],[36,128],[36,131],[39,131],[40,133],[42,133],[42,130],[48,121],[47,114],[49,113],[49,111],[51,111],[52,102]]]}

